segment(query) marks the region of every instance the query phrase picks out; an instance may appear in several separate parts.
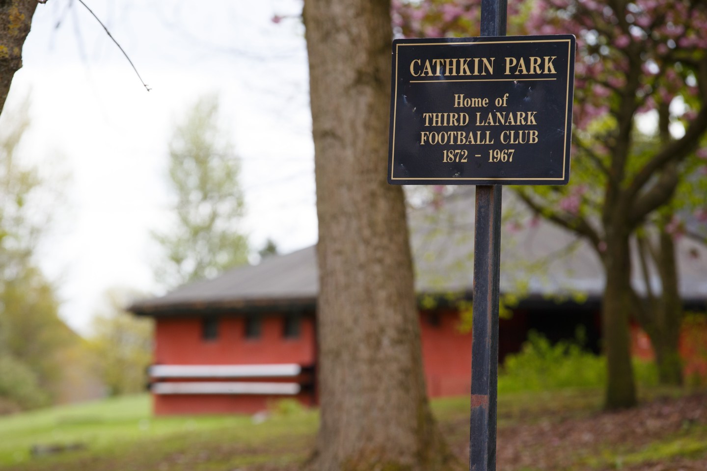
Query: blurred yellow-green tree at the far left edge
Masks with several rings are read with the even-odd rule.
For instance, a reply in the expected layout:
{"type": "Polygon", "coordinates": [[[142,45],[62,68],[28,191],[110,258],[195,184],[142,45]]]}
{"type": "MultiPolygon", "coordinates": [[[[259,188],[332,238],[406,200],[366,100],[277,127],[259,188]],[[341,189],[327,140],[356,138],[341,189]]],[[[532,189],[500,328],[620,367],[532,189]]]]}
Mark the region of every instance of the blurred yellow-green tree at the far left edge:
{"type": "Polygon", "coordinates": [[[30,370],[42,394],[53,398],[64,370],[57,352],[76,335],[59,318],[54,287],[35,263],[37,244],[59,198],[37,167],[18,155],[28,126],[26,102],[0,119],[0,356],[6,357],[5,366],[22,364],[30,370]]]}

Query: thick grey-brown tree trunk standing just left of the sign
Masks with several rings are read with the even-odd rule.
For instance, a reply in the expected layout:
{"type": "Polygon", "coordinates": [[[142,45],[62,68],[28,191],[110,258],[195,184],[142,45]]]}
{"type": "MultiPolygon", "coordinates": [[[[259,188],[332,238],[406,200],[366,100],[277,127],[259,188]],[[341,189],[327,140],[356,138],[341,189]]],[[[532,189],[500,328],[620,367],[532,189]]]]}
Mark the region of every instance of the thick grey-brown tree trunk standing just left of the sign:
{"type": "Polygon", "coordinates": [[[307,0],[320,295],[310,469],[443,469],[421,359],[404,196],[387,184],[390,1],[307,0]]]}

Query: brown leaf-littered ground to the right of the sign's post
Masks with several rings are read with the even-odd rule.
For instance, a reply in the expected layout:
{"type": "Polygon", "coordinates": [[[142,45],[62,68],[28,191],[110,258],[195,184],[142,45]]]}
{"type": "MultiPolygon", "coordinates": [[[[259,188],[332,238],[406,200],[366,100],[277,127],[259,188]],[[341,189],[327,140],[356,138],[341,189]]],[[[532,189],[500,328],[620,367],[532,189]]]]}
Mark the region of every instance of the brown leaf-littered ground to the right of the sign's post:
{"type": "MultiPolygon", "coordinates": [[[[657,398],[618,412],[554,411],[513,422],[501,420],[498,429],[499,470],[707,471],[705,394],[657,398]]],[[[467,450],[457,444],[462,459],[467,450]]]]}

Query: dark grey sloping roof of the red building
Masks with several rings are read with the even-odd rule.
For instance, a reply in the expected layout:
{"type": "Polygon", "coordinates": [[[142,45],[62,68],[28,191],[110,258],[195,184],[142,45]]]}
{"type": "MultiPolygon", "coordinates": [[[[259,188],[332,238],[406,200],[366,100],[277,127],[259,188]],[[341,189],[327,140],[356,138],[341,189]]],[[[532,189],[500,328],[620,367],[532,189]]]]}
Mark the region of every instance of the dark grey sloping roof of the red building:
{"type": "MultiPolygon", "coordinates": [[[[594,251],[570,232],[544,220],[534,220],[504,191],[501,232],[501,291],[526,297],[549,296],[598,299],[604,276],[594,251]]],[[[409,212],[411,246],[416,263],[416,290],[420,294],[472,292],[474,191],[467,187],[409,212]]],[[[678,244],[680,291],[684,299],[707,297],[707,249],[681,239],[678,244]]],[[[640,270],[634,285],[643,291],[640,270]]],[[[655,273],[654,288],[660,286],[655,273]]],[[[163,297],[146,299],[129,310],[148,316],[199,311],[310,310],[316,304],[319,283],[315,246],[265,258],[255,266],[229,270],[212,280],[192,282],[163,297]]]]}

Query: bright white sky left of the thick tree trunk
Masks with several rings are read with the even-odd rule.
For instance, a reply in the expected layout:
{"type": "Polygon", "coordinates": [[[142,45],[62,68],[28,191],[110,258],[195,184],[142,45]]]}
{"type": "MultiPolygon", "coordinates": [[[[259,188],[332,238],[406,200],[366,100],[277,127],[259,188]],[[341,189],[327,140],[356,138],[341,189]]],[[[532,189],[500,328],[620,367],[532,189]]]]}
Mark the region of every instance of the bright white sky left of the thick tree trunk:
{"type": "MultiPolygon", "coordinates": [[[[5,111],[30,96],[24,155],[70,174],[37,257],[86,333],[110,287],[158,292],[150,231],[169,222],[167,145],[198,97],[221,97],[242,157],[244,231],[287,252],[315,243],[314,161],[300,0],[85,0],[37,7],[5,111]],[[71,5],[69,7],[69,5],[71,5]],[[59,28],[55,28],[61,19],[59,28]]],[[[4,117],[7,118],[7,117],[4,117]]]]}

